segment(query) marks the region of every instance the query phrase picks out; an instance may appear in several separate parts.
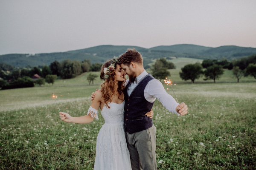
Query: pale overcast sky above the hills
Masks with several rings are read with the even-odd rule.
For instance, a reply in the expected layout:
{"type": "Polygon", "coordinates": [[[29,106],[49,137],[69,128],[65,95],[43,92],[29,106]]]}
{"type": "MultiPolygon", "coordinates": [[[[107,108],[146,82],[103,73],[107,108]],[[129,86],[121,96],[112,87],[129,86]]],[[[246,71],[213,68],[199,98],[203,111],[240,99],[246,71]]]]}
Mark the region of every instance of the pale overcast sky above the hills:
{"type": "Polygon", "coordinates": [[[97,45],[256,48],[256,0],[1,0],[0,54],[97,45]]]}

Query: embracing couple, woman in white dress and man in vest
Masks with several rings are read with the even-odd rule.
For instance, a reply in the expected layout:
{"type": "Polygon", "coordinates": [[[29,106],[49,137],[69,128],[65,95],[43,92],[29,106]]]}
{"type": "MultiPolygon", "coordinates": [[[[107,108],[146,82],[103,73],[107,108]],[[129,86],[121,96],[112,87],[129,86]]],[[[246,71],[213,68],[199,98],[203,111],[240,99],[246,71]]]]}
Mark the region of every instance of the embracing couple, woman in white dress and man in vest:
{"type": "Polygon", "coordinates": [[[86,124],[105,120],[96,143],[94,170],[157,170],[156,127],[151,108],[158,99],[172,113],[185,115],[187,105],[177,103],[162,83],[143,68],[143,58],[128,49],[118,59],[102,65],[101,89],[92,94],[87,115],[71,117],[60,112],[64,122],[86,124]],[[125,79],[125,74],[129,79],[125,79]]]}

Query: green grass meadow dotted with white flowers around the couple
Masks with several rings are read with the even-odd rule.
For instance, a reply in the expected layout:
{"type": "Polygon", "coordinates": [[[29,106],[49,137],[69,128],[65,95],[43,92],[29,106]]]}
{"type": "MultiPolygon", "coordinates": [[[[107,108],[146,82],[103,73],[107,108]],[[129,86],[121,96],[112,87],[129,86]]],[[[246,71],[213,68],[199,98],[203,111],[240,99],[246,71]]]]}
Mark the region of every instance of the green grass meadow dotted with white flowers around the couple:
{"type": "MultiPolygon", "coordinates": [[[[51,93],[58,95],[61,111],[83,116],[96,88],[99,85],[0,91],[0,168],[92,170],[104,119],[99,112],[99,120],[87,125],[63,122],[51,93]]],[[[173,88],[189,113],[177,116],[154,103],[158,170],[256,169],[255,82],[173,88]]]]}

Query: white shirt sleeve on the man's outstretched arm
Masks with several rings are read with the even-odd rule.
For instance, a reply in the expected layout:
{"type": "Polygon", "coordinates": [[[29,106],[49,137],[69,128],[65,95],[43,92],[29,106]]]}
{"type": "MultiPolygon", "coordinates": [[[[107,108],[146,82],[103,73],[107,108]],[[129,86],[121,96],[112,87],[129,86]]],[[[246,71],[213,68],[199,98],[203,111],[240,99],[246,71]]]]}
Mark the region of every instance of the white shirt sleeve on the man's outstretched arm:
{"type": "Polygon", "coordinates": [[[176,107],[179,103],[166,92],[163,84],[158,79],[152,79],[148,82],[144,90],[144,96],[145,99],[151,103],[154,102],[155,99],[158,99],[168,111],[180,115],[176,111],[176,107]]]}

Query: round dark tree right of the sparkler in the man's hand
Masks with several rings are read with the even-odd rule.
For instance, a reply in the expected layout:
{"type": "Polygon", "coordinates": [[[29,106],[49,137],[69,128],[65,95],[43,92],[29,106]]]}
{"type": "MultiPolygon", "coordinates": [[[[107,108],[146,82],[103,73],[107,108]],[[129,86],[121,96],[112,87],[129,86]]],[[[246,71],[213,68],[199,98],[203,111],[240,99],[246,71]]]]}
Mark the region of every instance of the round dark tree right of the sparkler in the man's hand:
{"type": "Polygon", "coordinates": [[[181,68],[180,78],[183,80],[191,79],[194,83],[195,79],[198,79],[203,74],[203,67],[200,63],[187,64],[181,68]]]}

